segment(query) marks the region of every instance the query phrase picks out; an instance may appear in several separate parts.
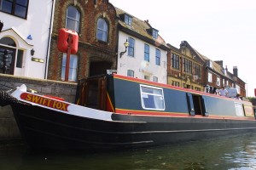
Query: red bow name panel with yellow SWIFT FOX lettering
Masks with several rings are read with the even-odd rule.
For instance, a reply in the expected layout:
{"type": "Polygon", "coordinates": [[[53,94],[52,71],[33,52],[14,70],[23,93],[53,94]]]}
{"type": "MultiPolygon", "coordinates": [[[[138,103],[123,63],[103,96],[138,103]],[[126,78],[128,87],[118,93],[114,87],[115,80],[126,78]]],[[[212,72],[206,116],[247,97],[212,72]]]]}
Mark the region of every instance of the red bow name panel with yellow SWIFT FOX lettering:
{"type": "Polygon", "coordinates": [[[44,98],[42,96],[38,96],[34,94],[27,94],[27,93],[20,94],[20,99],[25,99],[26,101],[29,101],[38,105],[44,105],[44,106],[61,110],[61,111],[67,111],[67,107],[68,107],[68,104],[63,103],[61,101],[44,98]]]}

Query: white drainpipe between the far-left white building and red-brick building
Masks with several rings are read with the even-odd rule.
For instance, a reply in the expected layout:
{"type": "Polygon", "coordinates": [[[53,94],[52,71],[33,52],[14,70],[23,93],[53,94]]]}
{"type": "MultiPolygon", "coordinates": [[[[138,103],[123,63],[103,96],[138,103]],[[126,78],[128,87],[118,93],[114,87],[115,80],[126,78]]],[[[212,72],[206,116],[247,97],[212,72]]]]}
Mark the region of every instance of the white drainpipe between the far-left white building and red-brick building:
{"type": "Polygon", "coordinates": [[[53,19],[54,19],[54,9],[55,9],[55,0],[52,0],[51,13],[50,13],[50,23],[49,23],[49,37],[48,37],[48,45],[47,45],[47,49],[46,49],[47,53],[46,53],[46,59],[45,59],[44,79],[47,79],[47,76],[48,76],[49,47],[50,47],[52,25],[53,25],[53,19]]]}

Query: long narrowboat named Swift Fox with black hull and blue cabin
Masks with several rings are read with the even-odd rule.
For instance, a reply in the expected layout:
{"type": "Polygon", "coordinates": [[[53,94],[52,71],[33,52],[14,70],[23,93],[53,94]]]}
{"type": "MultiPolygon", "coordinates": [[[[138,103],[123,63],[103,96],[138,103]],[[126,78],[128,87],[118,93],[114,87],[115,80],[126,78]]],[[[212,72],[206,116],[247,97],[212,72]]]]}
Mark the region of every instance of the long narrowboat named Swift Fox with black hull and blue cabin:
{"type": "Polygon", "coordinates": [[[1,99],[32,150],[130,150],[256,132],[250,102],[118,74],[80,80],[76,104],[25,85],[1,99]]]}

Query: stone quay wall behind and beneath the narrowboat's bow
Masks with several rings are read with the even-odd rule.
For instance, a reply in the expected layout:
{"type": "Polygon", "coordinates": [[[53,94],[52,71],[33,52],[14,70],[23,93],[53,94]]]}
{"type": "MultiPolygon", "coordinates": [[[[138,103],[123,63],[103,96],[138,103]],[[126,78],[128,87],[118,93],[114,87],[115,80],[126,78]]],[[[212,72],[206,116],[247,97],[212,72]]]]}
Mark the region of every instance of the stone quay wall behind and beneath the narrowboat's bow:
{"type": "MultiPolygon", "coordinates": [[[[77,83],[57,82],[26,77],[14,77],[0,74],[0,91],[15,89],[25,84],[27,89],[37,91],[38,94],[54,95],[74,103],[77,83]]],[[[15,122],[15,117],[9,105],[0,106],[0,141],[19,139],[20,132],[15,122]]]]}

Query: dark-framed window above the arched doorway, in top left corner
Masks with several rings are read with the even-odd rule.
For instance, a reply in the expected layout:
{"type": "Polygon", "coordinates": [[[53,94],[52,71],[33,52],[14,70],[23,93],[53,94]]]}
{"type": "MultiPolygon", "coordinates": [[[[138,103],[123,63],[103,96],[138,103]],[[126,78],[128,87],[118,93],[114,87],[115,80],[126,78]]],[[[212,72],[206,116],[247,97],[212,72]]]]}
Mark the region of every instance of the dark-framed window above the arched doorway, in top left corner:
{"type": "Polygon", "coordinates": [[[0,11],[26,19],[28,0],[0,0],[0,11]]]}

